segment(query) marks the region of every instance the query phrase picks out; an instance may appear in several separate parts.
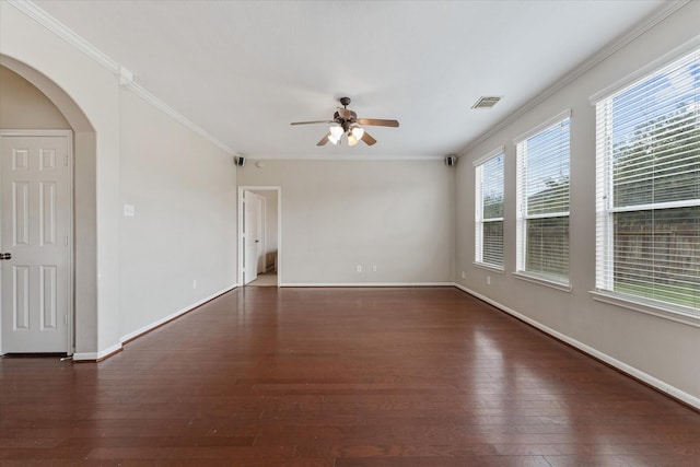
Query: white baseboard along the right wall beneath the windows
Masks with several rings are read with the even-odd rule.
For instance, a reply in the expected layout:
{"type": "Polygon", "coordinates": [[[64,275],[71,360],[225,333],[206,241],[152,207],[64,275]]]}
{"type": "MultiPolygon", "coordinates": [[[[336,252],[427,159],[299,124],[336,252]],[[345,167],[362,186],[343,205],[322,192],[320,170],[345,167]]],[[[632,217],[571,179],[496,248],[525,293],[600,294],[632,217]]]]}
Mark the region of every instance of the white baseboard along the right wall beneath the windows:
{"type": "Polygon", "coordinates": [[[594,358],[607,363],[608,365],[616,367],[617,370],[621,371],[622,373],[626,373],[626,374],[628,374],[628,375],[630,375],[630,376],[632,376],[632,377],[634,377],[634,378],[637,378],[637,380],[639,380],[639,381],[641,381],[641,382],[643,382],[643,383],[645,383],[645,384],[658,389],[662,393],[666,393],[669,396],[672,396],[672,397],[674,397],[674,398],[676,398],[676,399],[678,399],[678,400],[680,400],[680,401],[682,401],[682,402],[685,402],[685,404],[687,404],[687,405],[689,405],[691,407],[700,409],[700,398],[695,397],[695,396],[692,396],[692,395],[690,395],[688,393],[685,393],[685,392],[678,389],[677,387],[674,387],[674,386],[669,385],[668,383],[665,383],[665,382],[663,382],[663,381],[661,381],[661,380],[658,380],[658,378],[656,378],[656,377],[654,377],[654,376],[652,376],[650,374],[646,374],[646,373],[642,372],[639,369],[635,369],[634,366],[628,365],[627,363],[621,362],[621,361],[608,355],[607,353],[603,353],[599,350],[596,350],[596,349],[594,349],[594,348],[592,348],[590,346],[586,346],[583,342],[580,342],[580,341],[578,341],[575,339],[572,339],[571,337],[569,337],[567,335],[563,335],[563,334],[561,334],[561,332],[559,332],[559,331],[557,331],[557,330],[555,330],[555,329],[552,329],[552,328],[550,328],[548,326],[545,326],[541,323],[536,322],[535,319],[533,319],[533,318],[530,318],[528,316],[525,316],[525,315],[516,312],[513,308],[510,308],[510,307],[508,307],[505,305],[502,305],[501,303],[499,303],[499,302],[497,302],[494,300],[489,299],[488,296],[481,295],[480,293],[475,292],[475,291],[472,291],[470,289],[467,289],[466,287],[463,287],[463,285],[460,285],[458,283],[454,283],[453,285],[456,287],[457,289],[464,291],[464,292],[467,292],[470,295],[476,296],[477,299],[479,299],[479,300],[481,300],[481,301],[483,301],[483,302],[486,302],[486,303],[488,303],[490,305],[495,306],[499,310],[502,310],[503,312],[508,313],[509,315],[515,316],[516,318],[518,318],[518,319],[527,323],[528,325],[541,330],[542,332],[546,332],[546,334],[548,334],[548,335],[561,340],[562,342],[565,342],[565,343],[570,345],[571,347],[574,347],[574,348],[581,350],[582,352],[587,353],[588,355],[594,357],[594,358]]]}

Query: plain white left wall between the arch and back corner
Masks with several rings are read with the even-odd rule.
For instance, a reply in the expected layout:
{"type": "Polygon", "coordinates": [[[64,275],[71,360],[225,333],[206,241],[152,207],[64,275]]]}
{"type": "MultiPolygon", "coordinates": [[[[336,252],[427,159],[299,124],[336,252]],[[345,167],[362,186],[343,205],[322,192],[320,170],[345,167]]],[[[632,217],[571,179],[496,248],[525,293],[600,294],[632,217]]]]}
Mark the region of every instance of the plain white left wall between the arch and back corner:
{"type": "Polygon", "coordinates": [[[233,157],[120,92],[120,336],[236,284],[233,157]],[[196,281],[196,288],[194,287],[196,281]]]}

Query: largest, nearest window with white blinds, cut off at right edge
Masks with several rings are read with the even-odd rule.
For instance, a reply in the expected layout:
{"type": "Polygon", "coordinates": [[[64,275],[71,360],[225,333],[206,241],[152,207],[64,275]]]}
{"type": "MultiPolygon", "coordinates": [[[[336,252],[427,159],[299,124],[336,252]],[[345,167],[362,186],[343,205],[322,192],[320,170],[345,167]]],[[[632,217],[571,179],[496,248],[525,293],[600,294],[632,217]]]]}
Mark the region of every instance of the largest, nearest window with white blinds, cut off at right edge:
{"type": "Polygon", "coordinates": [[[596,288],[700,314],[700,49],[596,102],[596,288]]]}

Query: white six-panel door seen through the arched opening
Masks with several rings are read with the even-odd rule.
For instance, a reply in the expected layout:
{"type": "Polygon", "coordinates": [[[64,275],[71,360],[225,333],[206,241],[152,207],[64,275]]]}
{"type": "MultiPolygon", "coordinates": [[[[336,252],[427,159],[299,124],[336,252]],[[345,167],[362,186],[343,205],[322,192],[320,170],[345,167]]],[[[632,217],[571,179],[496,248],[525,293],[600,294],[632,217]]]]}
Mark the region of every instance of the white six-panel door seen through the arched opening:
{"type": "Polygon", "coordinates": [[[2,353],[70,352],[68,136],[0,138],[2,353]]]}

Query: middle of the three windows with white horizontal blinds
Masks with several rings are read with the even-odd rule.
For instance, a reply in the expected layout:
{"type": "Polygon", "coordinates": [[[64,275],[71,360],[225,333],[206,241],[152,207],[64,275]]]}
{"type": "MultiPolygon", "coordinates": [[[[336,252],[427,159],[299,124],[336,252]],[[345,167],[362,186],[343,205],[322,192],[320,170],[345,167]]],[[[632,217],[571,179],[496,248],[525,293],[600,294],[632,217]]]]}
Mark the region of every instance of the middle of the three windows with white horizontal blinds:
{"type": "Polygon", "coordinates": [[[517,272],[569,284],[570,113],[516,139],[517,272]]]}

